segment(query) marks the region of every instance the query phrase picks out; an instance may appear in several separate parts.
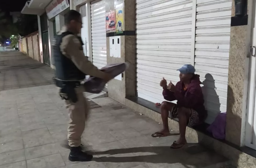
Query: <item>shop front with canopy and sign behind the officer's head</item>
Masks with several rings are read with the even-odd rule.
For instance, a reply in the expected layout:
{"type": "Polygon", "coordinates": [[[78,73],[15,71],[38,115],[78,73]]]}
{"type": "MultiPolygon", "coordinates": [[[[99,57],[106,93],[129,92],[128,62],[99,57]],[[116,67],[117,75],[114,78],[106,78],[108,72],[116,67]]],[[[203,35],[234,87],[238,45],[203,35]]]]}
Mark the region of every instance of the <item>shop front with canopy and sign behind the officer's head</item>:
{"type": "Polygon", "coordinates": [[[39,51],[42,63],[54,68],[52,44],[54,36],[64,26],[65,14],[70,10],[67,0],[32,0],[27,1],[21,13],[34,14],[38,18],[39,51]]]}

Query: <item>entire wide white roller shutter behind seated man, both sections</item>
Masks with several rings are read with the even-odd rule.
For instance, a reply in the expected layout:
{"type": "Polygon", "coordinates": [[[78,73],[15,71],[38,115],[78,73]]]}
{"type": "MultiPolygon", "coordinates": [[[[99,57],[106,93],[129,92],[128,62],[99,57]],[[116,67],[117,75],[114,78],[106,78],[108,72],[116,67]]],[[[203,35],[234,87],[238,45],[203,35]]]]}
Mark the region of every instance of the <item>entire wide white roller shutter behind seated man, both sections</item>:
{"type": "Polygon", "coordinates": [[[136,0],[138,97],[161,103],[161,79],[176,84],[176,70],[192,64],[203,82],[206,122],[226,112],[231,6],[232,0],[136,0]]]}

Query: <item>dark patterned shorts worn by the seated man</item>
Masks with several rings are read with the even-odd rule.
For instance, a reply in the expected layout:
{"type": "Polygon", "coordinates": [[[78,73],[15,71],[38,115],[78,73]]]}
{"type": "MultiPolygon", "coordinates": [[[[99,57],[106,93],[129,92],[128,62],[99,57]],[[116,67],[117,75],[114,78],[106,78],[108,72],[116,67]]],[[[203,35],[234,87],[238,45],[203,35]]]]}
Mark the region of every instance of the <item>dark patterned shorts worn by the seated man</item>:
{"type": "MultiPolygon", "coordinates": [[[[176,104],[170,111],[170,117],[171,119],[178,118],[178,108],[176,104]]],[[[193,127],[198,124],[200,124],[198,113],[194,109],[190,109],[190,117],[187,126],[193,127]]]]}

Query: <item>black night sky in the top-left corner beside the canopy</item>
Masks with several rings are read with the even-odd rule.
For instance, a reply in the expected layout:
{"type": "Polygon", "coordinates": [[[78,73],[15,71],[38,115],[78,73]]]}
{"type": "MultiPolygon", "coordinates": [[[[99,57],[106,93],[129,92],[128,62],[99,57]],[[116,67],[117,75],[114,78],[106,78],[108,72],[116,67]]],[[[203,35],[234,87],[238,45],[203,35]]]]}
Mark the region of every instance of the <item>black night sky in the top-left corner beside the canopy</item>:
{"type": "Polygon", "coordinates": [[[27,0],[0,0],[0,9],[5,12],[21,11],[27,0]]]}

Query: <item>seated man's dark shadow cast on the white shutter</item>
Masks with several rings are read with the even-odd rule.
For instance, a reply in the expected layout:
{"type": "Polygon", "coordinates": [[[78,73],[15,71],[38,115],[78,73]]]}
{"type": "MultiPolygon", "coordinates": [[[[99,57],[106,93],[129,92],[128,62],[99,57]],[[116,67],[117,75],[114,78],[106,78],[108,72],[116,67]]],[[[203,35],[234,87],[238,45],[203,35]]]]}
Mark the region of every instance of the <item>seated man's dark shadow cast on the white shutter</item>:
{"type": "Polygon", "coordinates": [[[210,73],[205,75],[205,80],[202,82],[202,92],[204,94],[204,107],[208,111],[208,118],[206,119],[207,123],[213,122],[213,117],[217,116],[220,113],[220,99],[215,90],[215,80],[210,73]],[[209,113],[211,113],[209,115],[209,113]],[[214,114],[213,114],[214,113],[214,114]],[[214,116],[213,116],[214,115],[214,116]]]}

